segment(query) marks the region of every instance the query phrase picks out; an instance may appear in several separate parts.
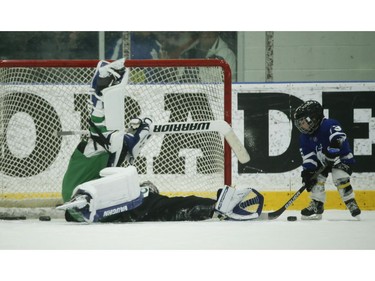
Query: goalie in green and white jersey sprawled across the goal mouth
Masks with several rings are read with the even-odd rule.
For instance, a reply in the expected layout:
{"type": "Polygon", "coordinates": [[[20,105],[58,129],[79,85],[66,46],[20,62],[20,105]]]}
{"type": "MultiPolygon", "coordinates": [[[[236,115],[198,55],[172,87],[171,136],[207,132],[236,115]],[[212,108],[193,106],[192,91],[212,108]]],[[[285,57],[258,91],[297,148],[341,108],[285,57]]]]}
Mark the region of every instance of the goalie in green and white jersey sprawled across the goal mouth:
{"type": "MultiPolygon", "coordinates": [[[[108,120],[121,119],[123,112],[104,101],[119,94],[126,75],[124,59],[101,61],[91,84],[90,138],[82,141],[71,156],[62,184],[67,221],[134,222],[205,220],[214,214],[224,219],[250,220],[259,217],[263,197],[251,188],[225,186],[218,200],[197,196],[167,197],[151,182],[140,183],[137,170],[130,164],[151,137],[152,120],[133,118],[129,130],[109,130],[108,120]],[[106,105],[108,105],[106,103],[106,105]],[[255,195],[255,197],[254,197],[255,195]],[[250,198],[251,197],[251,198],[250,198]],[[253,210],[257,206],[256,211],[253,210]]],[[[116,104],[116,103],[114,103],[116,104]]],[[[121,106],[123,108],[123,105],[121,106]]]]}

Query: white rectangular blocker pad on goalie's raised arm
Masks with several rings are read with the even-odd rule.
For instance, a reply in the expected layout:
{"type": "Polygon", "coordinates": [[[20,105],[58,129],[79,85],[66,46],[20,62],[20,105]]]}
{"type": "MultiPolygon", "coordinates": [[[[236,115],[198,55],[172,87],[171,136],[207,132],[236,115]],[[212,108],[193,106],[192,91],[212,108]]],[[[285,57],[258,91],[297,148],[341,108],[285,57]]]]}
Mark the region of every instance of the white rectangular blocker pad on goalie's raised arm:
{"type": "Polygon", "coordinates": [[[108,130],[125,130],[125,89],[128,83],[129,71],[125,71],[121,83],[102,90],[104,116],[108,130]]]}

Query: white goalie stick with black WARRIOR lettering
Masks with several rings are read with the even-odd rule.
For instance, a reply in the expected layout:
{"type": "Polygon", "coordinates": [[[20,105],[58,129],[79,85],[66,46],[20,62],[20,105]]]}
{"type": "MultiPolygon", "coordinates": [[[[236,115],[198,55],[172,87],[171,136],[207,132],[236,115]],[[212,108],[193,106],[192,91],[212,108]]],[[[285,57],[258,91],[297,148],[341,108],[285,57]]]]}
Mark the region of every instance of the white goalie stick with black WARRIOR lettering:
{"type": "MultiPolygon", "coordinates": [[[[240,163],[250,161],[250,155],[243,146],[233,128],[224,120],[201,121],[201,122],[174,122],[164,124],[153,124],[153,134],[178,134],[178,133],[199,133],[199,132],[219,132],[224,136],[240,163]]],[[[58,131],[57,136],[68,135],[88,135],[89,131],[58,131]]]]}

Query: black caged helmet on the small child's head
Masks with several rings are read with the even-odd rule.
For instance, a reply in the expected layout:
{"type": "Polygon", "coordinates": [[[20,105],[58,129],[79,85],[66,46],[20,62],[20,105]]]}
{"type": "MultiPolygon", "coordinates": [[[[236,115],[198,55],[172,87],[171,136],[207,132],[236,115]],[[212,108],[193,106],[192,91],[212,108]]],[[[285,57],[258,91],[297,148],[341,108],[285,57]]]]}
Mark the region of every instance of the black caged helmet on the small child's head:
{"type": "Polygon", "coordinates": [[[294,112],[294,125],[303,134],[312,134],[322,122],[323,107],[314,100],[301,104],[294,112]]]}

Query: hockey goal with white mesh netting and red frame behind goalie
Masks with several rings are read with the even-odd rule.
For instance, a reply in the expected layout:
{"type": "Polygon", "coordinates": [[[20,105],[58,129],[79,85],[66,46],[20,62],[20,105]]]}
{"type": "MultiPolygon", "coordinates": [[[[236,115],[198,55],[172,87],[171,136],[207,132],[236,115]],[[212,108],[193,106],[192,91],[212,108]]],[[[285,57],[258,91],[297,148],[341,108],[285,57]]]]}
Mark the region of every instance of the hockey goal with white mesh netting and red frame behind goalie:
{"type": "MultiPolygon", "coordinates": [[[[0,207],[54,207],[82,135],[98,61],[0,61],[0,207]]],[[[231,122],[231,74],[222,60],[127,60],[125,123],[231,122]]],[[[126,166],[127,163],[124,163],[126,166]]],[[[168,195],[212,197],[231,183],[231,152],[217,132],[153,135],[135,166],[168,195]]]]}

